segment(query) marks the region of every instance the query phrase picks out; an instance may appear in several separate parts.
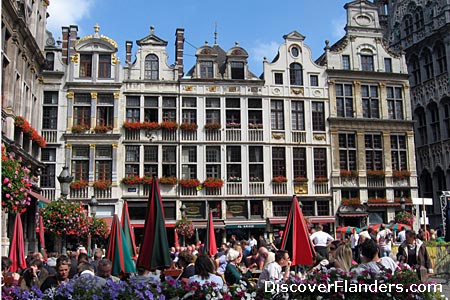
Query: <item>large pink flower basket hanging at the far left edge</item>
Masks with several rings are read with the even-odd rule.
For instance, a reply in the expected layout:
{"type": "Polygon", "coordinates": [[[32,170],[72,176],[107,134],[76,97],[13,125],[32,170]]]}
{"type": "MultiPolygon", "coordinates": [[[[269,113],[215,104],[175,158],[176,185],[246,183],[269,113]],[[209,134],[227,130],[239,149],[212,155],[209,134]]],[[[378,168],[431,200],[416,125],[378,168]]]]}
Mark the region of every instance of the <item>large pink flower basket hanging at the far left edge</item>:
{"type": "Polygon", "coordinates": [[[8,153],[2,144],[2,207],[8,212],[23,213],[30,205],[30,173],[22,158],[8,153]]]}

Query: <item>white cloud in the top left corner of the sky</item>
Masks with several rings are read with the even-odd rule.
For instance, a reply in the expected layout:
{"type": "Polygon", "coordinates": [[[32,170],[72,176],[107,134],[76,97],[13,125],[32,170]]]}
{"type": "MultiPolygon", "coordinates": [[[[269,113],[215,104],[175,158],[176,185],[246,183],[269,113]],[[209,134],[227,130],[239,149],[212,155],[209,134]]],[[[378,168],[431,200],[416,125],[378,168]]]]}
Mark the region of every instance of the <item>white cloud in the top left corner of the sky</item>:
{"type": "Polygon", "coordinates": [[[48,7],[50,17],[47,29],[55,38],[61,36],[61,27],[78,25],[80,20],[89,16],[95,0],[52,0],[48,7]]]}

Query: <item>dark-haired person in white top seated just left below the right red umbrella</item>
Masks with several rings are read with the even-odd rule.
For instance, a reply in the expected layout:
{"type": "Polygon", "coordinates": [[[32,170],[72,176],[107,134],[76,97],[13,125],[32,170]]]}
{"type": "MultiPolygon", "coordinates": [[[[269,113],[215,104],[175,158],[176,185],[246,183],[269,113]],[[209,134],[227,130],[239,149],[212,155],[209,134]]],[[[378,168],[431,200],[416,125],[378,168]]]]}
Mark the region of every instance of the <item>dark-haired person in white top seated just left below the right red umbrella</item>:
{"type": "Polygon", "coordinates": [[[286,250],[279,250],[275,253],[275,261],[267,264],[259,275],[257,283],[258,288],[263,288],[266,281],[279,283],[280,280],[286,281],[289,278],[291,260],[286,250]],[[286,267],[284,273],[282,268],[286,267]]]}

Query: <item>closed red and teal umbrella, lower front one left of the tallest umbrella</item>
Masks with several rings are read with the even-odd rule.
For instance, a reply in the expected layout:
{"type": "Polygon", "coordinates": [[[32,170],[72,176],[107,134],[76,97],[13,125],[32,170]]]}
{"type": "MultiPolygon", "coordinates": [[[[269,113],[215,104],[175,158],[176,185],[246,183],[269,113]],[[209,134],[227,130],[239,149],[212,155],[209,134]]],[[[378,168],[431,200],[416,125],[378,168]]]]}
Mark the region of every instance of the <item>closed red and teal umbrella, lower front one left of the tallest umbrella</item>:
{"type": "Polygon", "coordinates": [[[125,244],[125,234],[120,225],[119,217],[115,214],[111,224],[111,231],[108,241],[108,252],[106,258],[112,261],[112,275],[119,275],[121,272],[134,273],[133,260],[131,258],[130,250],[125,244]]]}

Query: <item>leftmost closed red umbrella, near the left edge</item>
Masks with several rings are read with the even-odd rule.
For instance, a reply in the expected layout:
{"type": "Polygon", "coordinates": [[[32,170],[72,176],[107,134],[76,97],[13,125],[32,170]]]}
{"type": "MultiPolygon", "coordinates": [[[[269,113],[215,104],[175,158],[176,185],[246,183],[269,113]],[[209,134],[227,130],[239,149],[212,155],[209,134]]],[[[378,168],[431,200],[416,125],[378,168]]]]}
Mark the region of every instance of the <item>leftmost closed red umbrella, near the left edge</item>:
{"type": "Polygon", "coordinates": [[[25,243],[23,240],[23,227],[20,213],[16,214],[14,221],[14,232],[9,246],[9,258],[12,261],[10,271],[17,272],[25,269],[27,262],[25,261],[25,243]]]}

